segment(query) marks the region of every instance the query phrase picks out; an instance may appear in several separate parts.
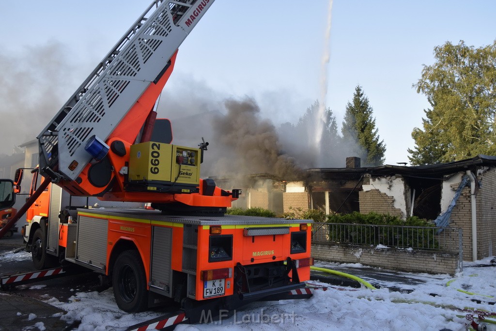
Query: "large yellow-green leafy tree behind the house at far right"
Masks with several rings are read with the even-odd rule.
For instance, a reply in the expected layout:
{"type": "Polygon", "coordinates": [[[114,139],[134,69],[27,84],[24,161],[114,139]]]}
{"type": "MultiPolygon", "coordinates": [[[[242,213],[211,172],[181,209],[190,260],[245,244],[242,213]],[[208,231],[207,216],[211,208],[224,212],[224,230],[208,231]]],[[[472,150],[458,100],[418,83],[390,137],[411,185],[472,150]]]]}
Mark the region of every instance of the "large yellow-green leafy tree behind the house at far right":
{"type": "Polygon", "coordinates": [[[478,154],[496,155],[496,40],[474,48],[463,41],[434,48],[414,87],[427,96],[423,129],[415,128],[413,165],[452,162],[478,154]]]}

